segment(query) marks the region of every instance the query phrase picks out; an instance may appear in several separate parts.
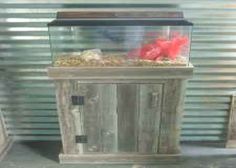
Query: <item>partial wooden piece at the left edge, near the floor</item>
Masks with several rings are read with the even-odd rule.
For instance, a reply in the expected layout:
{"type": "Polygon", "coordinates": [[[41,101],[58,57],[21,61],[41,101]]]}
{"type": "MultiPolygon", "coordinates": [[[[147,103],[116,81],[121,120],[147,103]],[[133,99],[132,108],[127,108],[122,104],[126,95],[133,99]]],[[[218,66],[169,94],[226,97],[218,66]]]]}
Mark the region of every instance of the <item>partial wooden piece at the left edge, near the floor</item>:
{"type": "Polygon", "coordinates": [[[8,150],[10,149],[12,145],[12,141],[7,136],[3,117],[0,114],[0,161],[4,158],[4,156],[7,154],[8,150]]]}

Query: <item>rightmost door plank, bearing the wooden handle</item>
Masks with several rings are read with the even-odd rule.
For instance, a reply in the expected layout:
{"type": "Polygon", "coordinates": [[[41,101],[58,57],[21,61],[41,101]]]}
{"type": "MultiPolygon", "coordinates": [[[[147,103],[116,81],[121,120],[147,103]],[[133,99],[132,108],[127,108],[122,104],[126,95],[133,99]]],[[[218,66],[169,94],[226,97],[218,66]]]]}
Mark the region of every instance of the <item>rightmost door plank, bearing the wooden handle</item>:
{"type": "Polygon", "coordinates": [[[162,85],[141,84],[139,94],[138,152],[157,153],[162,85]]]}

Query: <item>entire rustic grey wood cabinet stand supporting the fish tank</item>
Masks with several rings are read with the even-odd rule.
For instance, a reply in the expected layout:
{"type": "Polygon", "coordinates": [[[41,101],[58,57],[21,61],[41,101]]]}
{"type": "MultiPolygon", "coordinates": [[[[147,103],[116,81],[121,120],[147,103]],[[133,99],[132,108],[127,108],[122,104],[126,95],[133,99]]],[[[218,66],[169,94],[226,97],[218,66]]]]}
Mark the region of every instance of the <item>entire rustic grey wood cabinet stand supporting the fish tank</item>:
{"type": "Polygon", "coordinates": [[[61,163],[155,163],[179,155],[193,67],[49,67],[61,163]]]}

